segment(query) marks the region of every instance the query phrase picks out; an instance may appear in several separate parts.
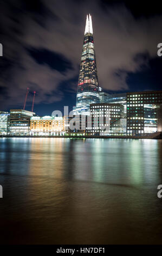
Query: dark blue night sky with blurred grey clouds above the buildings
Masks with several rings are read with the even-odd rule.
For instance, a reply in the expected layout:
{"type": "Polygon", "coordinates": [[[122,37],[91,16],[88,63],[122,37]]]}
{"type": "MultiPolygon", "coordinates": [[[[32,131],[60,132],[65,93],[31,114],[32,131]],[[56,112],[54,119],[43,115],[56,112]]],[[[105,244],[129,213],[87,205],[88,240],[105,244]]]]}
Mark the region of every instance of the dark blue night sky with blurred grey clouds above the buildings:
{"type": "Polygon", "coordinates": [[[51,115],[75,105],[86,15],[92,14],[99,86],[109,93],[162,89],[159,1],[1,0],[0,111],[51,115]]]}

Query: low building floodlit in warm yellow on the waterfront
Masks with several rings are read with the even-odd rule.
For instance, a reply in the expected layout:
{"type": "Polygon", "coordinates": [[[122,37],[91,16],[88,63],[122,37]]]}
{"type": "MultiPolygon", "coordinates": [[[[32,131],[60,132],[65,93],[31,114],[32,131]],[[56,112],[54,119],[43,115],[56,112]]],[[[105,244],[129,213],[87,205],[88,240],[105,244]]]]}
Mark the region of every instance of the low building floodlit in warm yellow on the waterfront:
{"type": "Polygon", "coordinates": [[[31,117],[30,135],[64,135],[64,118],[50,117],[31,117]]]}

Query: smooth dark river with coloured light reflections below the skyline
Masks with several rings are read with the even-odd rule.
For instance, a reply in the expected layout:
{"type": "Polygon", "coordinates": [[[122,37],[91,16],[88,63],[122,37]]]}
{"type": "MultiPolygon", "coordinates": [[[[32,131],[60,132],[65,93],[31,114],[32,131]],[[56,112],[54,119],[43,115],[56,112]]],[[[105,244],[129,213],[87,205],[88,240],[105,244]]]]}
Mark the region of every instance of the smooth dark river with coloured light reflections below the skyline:
{"type": "Polygon", "coordinates": [[[162,141],[1,138],[1,243],[162,243],[162,141]]]}

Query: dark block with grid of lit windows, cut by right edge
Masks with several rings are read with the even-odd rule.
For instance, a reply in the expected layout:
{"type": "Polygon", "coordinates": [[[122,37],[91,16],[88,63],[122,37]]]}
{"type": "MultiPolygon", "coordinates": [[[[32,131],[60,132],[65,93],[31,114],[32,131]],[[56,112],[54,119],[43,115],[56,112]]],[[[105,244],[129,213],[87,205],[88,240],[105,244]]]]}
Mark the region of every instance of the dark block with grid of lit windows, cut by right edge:
{"type": "Polygon", "coordinates": [[[127,93],[127,135],[161,132],[162,91],[127,93]]]}

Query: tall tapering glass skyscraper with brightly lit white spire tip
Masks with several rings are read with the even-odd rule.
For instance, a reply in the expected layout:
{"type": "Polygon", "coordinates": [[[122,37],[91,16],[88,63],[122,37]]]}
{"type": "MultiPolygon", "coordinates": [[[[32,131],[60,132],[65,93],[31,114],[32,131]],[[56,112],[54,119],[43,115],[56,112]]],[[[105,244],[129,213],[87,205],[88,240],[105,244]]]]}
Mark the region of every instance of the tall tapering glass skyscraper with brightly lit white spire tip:
{"type": "Polygon", "coordinates": [[[99,82],[96,70],[92,17],[87,15],[82,57],[73,114],[89,114],[90,104],[99,103],[99,82]]]}

